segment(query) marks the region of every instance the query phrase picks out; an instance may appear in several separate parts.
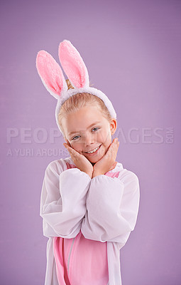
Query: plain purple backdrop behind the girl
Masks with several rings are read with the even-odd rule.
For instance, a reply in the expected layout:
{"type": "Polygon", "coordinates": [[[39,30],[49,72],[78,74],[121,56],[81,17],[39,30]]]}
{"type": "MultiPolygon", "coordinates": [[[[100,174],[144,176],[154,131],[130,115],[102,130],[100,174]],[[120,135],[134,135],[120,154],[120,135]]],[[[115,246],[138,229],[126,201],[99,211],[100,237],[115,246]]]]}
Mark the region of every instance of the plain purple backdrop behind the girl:
{"type": "Polygon", "coordinates": [[[44,282],[40,191],[48,163],[69,154],[35,57],[45,49],[59,62],[64,39],[79,50],[94,87],[111,99],[117,160],[140,180],[138,221],[121,249],[123,285],[180,284],[181,1],[4,1],[0,19],[1,284],[44,282]],[[11,128],[17,135],[9,142],[11,128]],[[45,142],[38,128],[47,131],[45,142]],[[38,156],[38,149],[62,155],[38,156]]]}

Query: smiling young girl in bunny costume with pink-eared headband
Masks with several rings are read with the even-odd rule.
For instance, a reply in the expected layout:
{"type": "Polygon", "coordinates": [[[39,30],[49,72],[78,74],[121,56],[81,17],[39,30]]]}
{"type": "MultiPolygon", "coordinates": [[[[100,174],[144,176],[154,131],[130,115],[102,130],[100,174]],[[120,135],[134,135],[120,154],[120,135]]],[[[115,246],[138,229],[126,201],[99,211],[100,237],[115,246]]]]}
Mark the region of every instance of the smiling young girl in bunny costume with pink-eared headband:
{"type": "Polygon", "coordinates": [[[59,58],[69,88],[49,53],[36,58],[43,84],[57,99],[55,118],[70,153],[50,162],[43,180],[45,285],[121,285],[119,251],[136,225],[138,177],[116,162],[116,112],[101,90],[89,87],[70,41],[60,43],[59,58]]]}

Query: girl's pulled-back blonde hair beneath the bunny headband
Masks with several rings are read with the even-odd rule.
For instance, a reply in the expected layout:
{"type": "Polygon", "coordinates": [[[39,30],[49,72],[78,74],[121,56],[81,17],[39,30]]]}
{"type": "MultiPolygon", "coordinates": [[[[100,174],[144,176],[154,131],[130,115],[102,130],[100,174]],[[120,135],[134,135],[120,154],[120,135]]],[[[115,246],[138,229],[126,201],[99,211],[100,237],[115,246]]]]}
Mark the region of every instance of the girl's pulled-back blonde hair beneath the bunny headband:
{"type": "MultiPolygon", "coordinates": [[[[66,80],[66,83],[68,89],[74,89],[69,79],[66,80]]],[[[104,104],[102,99],[100,99],[96,95],[89,93],[77,93],[65,100],[58,113],[58,123],[63,133],[64,130],[62,128],[62,118],[66,118],[68,114],[76,112],[77,110],[83,107],[87,107],[89,105],[96,105],[97,108],[99,108],[99,110],[102,112],[104,118],[106,118],[109,122],[111,121],[111,115],[109,113],[109,110],[106,108],[106,105],[104,104]]]]}

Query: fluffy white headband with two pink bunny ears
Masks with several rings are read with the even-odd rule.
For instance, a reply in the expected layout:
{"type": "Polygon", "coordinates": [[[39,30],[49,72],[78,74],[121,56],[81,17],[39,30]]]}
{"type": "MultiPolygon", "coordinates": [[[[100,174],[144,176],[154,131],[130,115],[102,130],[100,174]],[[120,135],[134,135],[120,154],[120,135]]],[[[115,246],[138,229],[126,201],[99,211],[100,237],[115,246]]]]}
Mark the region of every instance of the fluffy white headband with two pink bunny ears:
{"type": "Polygon", "coordinates": [[[60,133],[62,133],[62,130],[58,123],[58,114],[61,105],[70,96],[77,93],[90,93],[101,98],[106,105],[106,108],[108,108],[111,117],[116,119],[116,112],[109,98],[107,98],[101,90],[89,87],[89,74],[87,68],[79,52],[70,41],[64,40],[60,43],[58,56],[63,70],[75,89],[68,90],[62,69],[53,56],[47,51],[38,52],[36,56],[36,68],[45,88],[57,99],[55,118],[60,133]]]}

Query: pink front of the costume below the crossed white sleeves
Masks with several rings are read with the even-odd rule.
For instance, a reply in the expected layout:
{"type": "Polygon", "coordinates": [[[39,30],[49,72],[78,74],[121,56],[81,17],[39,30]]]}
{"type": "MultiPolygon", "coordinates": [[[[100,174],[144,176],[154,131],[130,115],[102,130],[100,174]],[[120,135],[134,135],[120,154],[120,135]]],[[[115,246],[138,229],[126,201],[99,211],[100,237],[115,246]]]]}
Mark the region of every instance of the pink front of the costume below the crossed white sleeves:
{"type": "Polygon", "coordinates": [[[85,239],[79,231],[74,239],[54,237],[53,250],[60,285],[108,284],[106,242],[85,239]]]}

